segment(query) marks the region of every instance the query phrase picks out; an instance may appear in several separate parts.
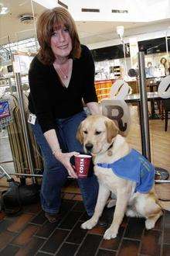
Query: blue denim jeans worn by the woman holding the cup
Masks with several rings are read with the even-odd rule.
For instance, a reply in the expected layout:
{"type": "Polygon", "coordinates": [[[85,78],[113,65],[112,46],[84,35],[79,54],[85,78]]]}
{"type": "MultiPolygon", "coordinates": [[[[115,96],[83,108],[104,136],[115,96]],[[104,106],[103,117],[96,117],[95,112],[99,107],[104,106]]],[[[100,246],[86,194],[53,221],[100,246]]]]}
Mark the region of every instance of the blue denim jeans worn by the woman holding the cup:
{"type": "MultiPolygon", "coordinates": [[[[56,134],[59,140],[59,146],[63,151],[82,152],[83,147],[76,140],[76,130],[80,122],[87,117],[86,112],[80,112],[66,119],[56,119],[56,134]]],[[[41,127],[36,120],[32,125],[32,131],[36,137],[36,142],[42,152],[44,161],[44,172],[41,187],[41,204],[42,209],[47,213],[58,213],[61,203],[61,189],[66,182],[68,172],[56,157],[53,156],[49,144],[46,142],[41,127]]],[[[83,196],[83,203],[89,216],[93,215],[93,211],[97,202],[98,182],[93,174],[88,178],[78,178],[78,184],[83,196]]]]}

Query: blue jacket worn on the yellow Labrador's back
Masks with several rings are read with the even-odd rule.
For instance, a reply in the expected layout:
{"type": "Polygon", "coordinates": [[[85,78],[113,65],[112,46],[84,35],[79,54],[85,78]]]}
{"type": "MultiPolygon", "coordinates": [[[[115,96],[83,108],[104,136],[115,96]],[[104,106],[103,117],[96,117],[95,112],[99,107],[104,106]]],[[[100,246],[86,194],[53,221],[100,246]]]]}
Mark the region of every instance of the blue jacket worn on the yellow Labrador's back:
{"type": "Polygon", "coordinates": [[[137,150],[131,152],[112,164],[97,164],[102,168],[111,168],[118,177],[136,182],[134,192],[147,193],[155,182],[155,168],[137,150]]]}

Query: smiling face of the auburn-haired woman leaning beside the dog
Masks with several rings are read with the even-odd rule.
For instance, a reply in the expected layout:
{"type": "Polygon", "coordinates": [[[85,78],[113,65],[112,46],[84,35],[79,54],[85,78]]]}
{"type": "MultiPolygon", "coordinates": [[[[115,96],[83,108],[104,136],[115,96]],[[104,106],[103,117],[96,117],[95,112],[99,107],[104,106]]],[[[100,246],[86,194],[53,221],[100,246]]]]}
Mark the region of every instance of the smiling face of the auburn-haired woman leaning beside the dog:
{"type": "Polygon", "coordinates": [[[65,26],[57,26],[51,36],[51,49],[55,57],[67,57],[72,50],[72,40],[65,26]]]}

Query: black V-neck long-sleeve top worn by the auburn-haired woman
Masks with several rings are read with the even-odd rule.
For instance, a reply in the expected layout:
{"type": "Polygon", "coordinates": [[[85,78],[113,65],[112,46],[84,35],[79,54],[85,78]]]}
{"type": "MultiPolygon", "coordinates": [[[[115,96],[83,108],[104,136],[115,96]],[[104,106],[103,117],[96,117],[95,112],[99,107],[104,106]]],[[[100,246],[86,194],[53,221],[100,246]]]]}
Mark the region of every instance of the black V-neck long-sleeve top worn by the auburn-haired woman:
{"type": "Polygon", "coordinates": [[[73,59],[68,88],[59,80],[53,64],[45,65],[34,57],[29,68],[29,111],[36,115],[42,132],[55,129],[56,118],[62,119],[83,110],[85,103],[97,102],[94,88],[94,64],[90,50],[81,46],[80,59],[73,59]]]}

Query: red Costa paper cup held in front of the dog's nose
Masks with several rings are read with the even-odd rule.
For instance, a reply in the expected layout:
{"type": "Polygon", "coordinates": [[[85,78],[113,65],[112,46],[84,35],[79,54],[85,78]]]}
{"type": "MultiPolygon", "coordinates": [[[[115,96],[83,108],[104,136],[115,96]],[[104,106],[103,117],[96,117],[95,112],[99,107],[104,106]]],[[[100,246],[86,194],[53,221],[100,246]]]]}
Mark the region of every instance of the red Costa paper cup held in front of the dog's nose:
{"type": "Polygon", "coordinates": [[[91,156],[88,154],[78,154],[75,157],[75,168],[78,178],[87,178],[91,156]]]}

